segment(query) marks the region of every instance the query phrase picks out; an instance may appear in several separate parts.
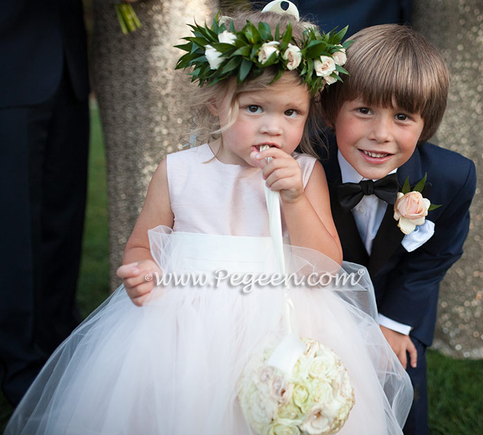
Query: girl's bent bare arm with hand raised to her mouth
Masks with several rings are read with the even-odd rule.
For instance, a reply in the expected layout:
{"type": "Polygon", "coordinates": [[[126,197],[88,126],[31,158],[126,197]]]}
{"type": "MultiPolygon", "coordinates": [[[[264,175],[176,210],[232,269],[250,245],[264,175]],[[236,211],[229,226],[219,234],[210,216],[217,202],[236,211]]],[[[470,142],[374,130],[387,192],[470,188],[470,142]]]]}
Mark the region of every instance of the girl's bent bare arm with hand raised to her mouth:
{"type": "Polygon", "coordinates": [[[304,189],[300,166],[289,154],[277,148],[257,154],[253,158],[262,167],[267,186],[280,192],[291,244],[316,249],[341,264],[342,247],[332,219],[322,165],[315,163],[304,189]],[[265,157],[273,159],[266,163],[265,157]]]}

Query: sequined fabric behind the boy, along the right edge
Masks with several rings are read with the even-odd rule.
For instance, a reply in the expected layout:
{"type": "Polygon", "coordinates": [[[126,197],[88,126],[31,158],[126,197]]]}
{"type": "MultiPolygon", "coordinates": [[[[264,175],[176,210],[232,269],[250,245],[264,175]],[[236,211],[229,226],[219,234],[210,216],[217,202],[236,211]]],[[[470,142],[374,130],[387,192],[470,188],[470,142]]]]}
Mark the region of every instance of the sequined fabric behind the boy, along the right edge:
{"type": "Polygon", "coordinates": [[[448,108],[432,141],[472,159],[477,190],[464,255],[450,269],[438,302],[433,347],[483,358],[483,3],[417,0],[412,25],[443,53],[451,74],[448,108]]]}

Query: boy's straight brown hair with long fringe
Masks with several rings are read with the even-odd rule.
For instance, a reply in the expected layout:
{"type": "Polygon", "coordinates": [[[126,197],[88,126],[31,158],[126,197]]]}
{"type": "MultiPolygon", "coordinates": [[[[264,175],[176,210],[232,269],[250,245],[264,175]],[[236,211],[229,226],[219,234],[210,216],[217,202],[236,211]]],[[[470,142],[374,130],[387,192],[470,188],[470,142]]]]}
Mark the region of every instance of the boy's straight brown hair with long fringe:
{"type": "Polygon", "coordinates": [[[435,134],[446,109],[449,73],[439,50],[408,26],[382,24],[349,37],[349,76],[321,94],[322,116],[334,125],[340,107],[361,98],[368,106],[397,105],[423,118],[419,141],[435,134]]]}

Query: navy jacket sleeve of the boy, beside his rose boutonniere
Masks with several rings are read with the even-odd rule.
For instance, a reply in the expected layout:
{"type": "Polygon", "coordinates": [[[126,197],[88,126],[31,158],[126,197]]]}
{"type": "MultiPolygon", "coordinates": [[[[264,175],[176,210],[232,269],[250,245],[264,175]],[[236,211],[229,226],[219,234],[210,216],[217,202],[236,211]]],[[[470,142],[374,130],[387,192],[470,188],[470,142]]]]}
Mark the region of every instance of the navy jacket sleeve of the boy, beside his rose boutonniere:
{"type": "MultiPolygon", "coordinates": [[[[379,312],[410,325],[414,335],[430,344],[436,321],[439,283],[448,269],[462,256],[463,244],[470,222],[469,206],[475,193],[475,165],[468,161],[466,179],[455,190],[453,198],[441,206],[441,211],[430,212],[428,219],[435,222],[435,233],[419,249],[401,255],[396,267],[386,276],[384,297],[379,301],[379,312]],[[419,335],[419,336],[418,336],[419,335]]],[[[438,185],[432,186],[437,190],[438,185]]],[[[444,190],[446,186],[442,186],[444,190]]],[[[439,204],[444,201],[441,199],[439,204]]],[[[434,201],[435,204],[438,202],[434,201]]],[[[402,248],[401,248],[402,249],[402,248]]]]}

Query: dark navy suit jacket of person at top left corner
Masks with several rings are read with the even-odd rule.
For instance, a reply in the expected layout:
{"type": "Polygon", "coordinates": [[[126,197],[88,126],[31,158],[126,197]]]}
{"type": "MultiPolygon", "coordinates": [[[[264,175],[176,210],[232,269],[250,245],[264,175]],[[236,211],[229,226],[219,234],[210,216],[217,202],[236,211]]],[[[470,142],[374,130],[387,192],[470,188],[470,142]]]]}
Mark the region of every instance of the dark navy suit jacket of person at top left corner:
{"type": "Polygon", "coordinates": [[[64,61],[75,96],[89,95],[82,0],[2,0],[0,107],[44,103],[64,61]]]}

